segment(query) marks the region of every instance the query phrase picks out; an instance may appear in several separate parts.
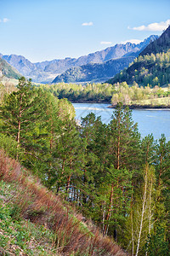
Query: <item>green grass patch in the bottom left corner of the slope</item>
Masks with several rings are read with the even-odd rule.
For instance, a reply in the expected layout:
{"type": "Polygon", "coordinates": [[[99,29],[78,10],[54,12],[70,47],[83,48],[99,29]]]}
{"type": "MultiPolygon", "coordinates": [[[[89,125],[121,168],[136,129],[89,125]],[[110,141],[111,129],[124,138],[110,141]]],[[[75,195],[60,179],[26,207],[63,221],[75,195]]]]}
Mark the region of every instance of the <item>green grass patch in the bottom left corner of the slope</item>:
{"type": "Polygon", "coordinates": [[[0,255],[56,255],[54,233],[16,214],[14,189],[15,185],[0,182],[0,255]]]}

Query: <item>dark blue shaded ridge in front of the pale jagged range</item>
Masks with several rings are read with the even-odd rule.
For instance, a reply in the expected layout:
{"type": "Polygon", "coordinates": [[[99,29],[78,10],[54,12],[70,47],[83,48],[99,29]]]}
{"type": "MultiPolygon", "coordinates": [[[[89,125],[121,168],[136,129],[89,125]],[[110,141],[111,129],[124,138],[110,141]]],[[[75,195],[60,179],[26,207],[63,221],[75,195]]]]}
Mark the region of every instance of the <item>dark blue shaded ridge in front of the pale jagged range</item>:
{"type": "Polygon", "coordinates": [[[80,67],[72,67],[57,76],[52,83],[101,82],[119,73],[133,61],[133,57],[123,57],[104,63],[88,63],[80,67]]]}

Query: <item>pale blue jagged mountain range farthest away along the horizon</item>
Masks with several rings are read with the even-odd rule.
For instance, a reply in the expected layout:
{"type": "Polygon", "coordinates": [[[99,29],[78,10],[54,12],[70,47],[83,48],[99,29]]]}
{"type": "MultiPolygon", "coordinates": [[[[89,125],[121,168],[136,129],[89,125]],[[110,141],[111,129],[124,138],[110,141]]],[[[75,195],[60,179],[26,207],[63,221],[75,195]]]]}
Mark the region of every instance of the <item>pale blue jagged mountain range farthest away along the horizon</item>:
{"type": "Polygon", "coordinates": [[[51,82],[57,75],[64,73],[71,67],[86,65],[89,62],[102,63],[111,59],[121,58],[123,55],[136,56],[152,40],[158,36],[150,36],[140,44],[116,44],[115,46],[84,55],[79,58],[65,58],[63,60],[42,61],[31,63],[22,55],[2,55],[5,61],[15,67],[26,78],[31,78],[35,82],[51,82]]]}

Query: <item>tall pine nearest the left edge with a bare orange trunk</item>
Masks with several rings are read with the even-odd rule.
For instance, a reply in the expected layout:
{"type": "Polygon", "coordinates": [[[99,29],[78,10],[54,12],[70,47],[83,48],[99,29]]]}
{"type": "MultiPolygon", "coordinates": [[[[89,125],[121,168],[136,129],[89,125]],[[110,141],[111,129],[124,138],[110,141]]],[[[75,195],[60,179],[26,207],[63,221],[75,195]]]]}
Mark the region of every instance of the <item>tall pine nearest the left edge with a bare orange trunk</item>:
{"type": "Polygon", "coordinates": [[[17,156],[22,148],[27,155],[36,155],[40,149],[42,117],[46,108],[42,90],[36,90],[31,80],[20,78],[18,90],[6,95],[0,107],[3,123],[1,131],[17,142],[17,156]],[[38,143],[37,143],[38,141],[38,143]]]}

